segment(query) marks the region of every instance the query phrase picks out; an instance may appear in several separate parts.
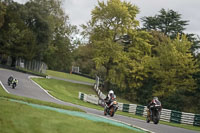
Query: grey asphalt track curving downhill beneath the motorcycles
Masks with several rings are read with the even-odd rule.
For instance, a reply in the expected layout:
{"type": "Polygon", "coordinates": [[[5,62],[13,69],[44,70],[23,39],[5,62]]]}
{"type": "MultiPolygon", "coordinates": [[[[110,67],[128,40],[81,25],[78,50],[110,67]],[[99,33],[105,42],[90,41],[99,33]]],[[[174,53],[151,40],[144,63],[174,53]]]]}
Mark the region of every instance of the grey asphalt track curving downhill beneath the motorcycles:
{"type": "MultiPolygon", "coordinates": [[[[62,105],[78,107],[89,114],[95,114],[101,117],[111,118],[109,116],[104,116],[103,111],[75,105],[68,102],[63,102],[50,96],[49,94],[47,94],[47,92],[45,92],[38,85],[36,85],[32,80],[30,80],[29,76],[32,76],[32,75],[0,68],[0,81],[3,83],[6,90],[11,94],[38,99],[42,101],[53,102],[53,103],[62,104],[62,105]],[[7,85],[7,79],[10,75],[13,75],[15,78],[19,80],[19,83],[15,89],[12,89],[10,86],[7,85]]],[[[77,94],[77,97],[78,97],[78,94],[77,94]]],[[[178,128],[178,127],[171,127],[171,126],[162,125],[162,124],[155,125],[153,123],[146,123],[146,121],[144,120],[134,119],[134,118],[121,116],[121,115],[115,115],[111,119],[122,121],[122,122],[131,124],[136,127],[140,127],[140,128],[143,128],[155,133],[199,133],[198,131],[192,131],[192,130],[187,130],[187,129],[178,128]]]]}

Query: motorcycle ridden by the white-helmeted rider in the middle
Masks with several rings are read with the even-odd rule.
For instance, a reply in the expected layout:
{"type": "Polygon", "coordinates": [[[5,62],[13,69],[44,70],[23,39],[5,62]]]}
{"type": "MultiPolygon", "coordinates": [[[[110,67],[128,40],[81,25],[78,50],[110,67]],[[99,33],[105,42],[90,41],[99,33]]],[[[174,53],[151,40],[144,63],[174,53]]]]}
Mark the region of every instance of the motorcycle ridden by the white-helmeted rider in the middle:
{"type": "Polygon", "coordinates": [[[104,109],[104,115],[110,115],[111,117],[114,116],[115,112],[117,111],[118,109],[118,104],[117,104],[117,101],[115,98],[112,98],[111,99],[111,103],[110,105],[107,105],[105,103],[105,109],[104,109]]]}

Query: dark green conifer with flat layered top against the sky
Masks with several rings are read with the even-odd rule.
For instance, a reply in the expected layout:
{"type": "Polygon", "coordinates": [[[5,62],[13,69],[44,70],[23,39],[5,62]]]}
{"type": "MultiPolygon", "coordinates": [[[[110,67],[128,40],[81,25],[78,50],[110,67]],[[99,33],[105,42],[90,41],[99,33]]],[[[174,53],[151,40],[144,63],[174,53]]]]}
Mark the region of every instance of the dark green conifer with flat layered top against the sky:
{"type": "Polygon", "coordinates": [[[161,31],[174,39],[178,33],[183,33],[185,26],[188,25],[188,21],[181,20],[181,14],[178,12],[161,9],[159,13],[153,17],[142,18],[144,29],[161,31]]]}

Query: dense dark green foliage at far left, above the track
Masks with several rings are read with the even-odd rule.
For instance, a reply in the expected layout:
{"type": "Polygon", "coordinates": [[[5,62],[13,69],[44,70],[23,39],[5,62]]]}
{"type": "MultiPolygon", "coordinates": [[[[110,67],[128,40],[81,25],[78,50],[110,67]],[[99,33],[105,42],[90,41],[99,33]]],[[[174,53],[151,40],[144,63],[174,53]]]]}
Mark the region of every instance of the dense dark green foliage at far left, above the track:
{"type": "Polygon", "coordinates": [[[50,69],[71,67],[71,34],[76,27],[69,23],[60,0],[32,0],[19,4],[0,2],[0,55],[40,60],[50,69]]]}

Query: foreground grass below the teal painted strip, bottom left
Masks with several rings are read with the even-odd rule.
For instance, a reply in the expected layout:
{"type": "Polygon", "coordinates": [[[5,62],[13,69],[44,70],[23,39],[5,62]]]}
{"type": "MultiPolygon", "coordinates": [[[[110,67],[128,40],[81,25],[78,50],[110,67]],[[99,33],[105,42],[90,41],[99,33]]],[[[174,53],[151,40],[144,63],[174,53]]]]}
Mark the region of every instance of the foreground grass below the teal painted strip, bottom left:
{"type": "Polygon", "coordinates": [[[134,133],[135,131],[0,99],[1,133],[134,133]]]}

